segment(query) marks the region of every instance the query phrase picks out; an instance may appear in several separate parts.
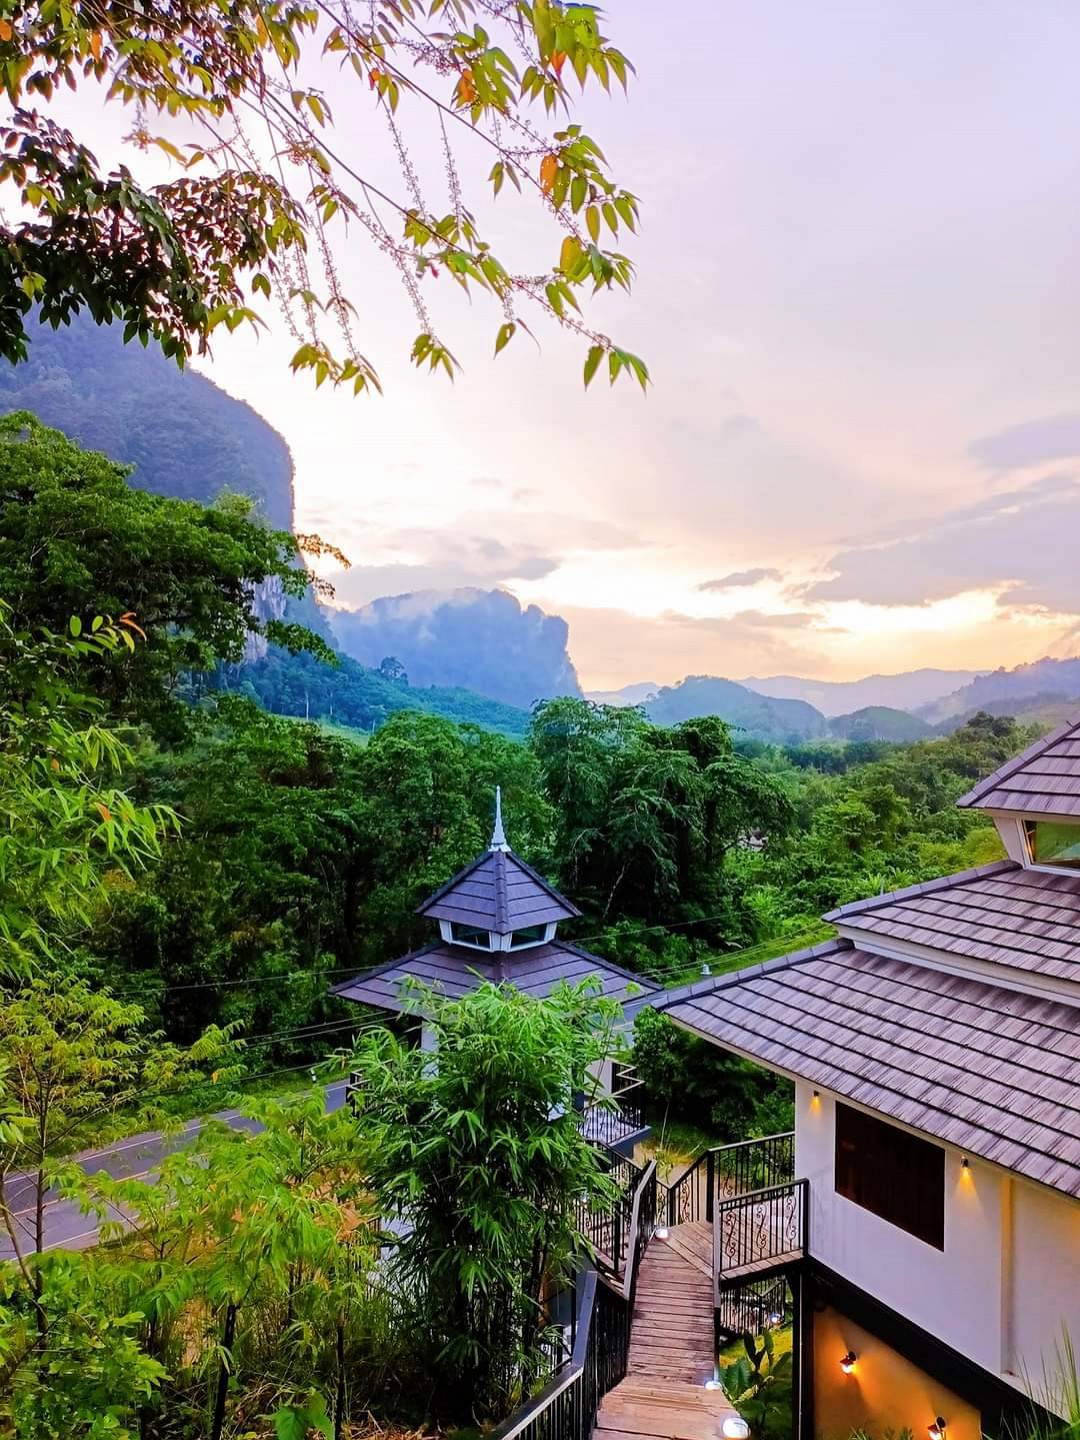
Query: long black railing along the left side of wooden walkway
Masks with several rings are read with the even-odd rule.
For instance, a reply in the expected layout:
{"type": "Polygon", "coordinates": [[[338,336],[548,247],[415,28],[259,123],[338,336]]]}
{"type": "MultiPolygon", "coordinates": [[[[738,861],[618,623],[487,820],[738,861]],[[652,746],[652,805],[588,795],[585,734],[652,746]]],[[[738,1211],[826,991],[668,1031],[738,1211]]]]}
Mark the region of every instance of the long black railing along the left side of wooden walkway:
{"type": "Polygon", "coordinates": [[[569,1365],[497,1430],[491,1440],[589,1440],[600,1401],[626,1374],[638,1266],[657,1207],[657,1166],[634,1192],[629,1264],[621,1287],[586,1270],[577,1287],[577,1323],[569,1365]]]}

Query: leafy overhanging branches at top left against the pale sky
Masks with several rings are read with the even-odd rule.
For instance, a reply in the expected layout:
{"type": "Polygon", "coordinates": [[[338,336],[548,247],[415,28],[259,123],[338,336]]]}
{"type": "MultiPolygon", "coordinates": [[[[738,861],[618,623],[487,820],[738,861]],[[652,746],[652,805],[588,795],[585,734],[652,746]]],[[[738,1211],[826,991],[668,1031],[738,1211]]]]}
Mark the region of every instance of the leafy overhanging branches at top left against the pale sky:
{"type": "Polygon", "coordinates": [[[520,307],[531,304],[589,341],[586,383],[606,357],[612,380],[628,372],[644,386],[641,360],[577,318],[583,287],[629,287],[629,259],[600,236],[634,230],[636,199],[609,179],[579,124],[543,135],[530,112],[543,104],[569,117],[572,76],[608,89],[625,86],[629,69],[599,12],[560,0],[13,0],[0,20],[0,78],[14,107],[0,127],[0,183],[26,217],[0,230],[0,353],[24,354],[24,317],[39,305],[53,325],[86,308],[183,361],[219,325],[259,323],[256,297],[276,292],[298,343],[294,370],[318,384],[377,387],[337,272],[351,228],[402,278],[420,327],[418,366],[456,367],[428,302],[436,285],[456,282],[501,311],[495,353],[527,328],[520,307]],[[356,151],[334,125],[331,66],[341,72],[334,89],[370,117],[356,151]],[[177,176],[144,186],[127,167],[102,174],[75,134],[27,108],[48,107],[60,85],[131,105],[134,147],[171,157],[177,176]],[[448,209],[425,199],[410,158],[425,115],[448,209]],[[168,132],[154,134],[156,121],[168,132]],[[377,132],[400,170],[396,194],[367,168],[377,132]],[[498,259],[467,204],[451,134],[490,154],[495,194],[510,181],[550,217],[560,245],[546,262],[518,272],[498,259]],[[340,334],[336,348],[327,327],[340,334]]]}

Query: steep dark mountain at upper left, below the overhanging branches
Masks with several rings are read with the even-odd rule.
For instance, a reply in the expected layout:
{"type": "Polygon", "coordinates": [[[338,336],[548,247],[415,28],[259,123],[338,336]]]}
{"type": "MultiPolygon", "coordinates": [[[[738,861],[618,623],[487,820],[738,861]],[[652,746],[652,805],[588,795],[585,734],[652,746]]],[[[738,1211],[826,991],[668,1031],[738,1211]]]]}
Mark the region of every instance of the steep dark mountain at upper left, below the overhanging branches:
{"type": "Polygon", "coordinates": [[[292,528],[292,456],[249,405],[157,348],[79,317],[30,327],[30,354],[0,366],[0,413],[33,410],[88,449],[134,465],[131,484],[209,505],[223,490],[251,495],[279,530],[292,528]]]}

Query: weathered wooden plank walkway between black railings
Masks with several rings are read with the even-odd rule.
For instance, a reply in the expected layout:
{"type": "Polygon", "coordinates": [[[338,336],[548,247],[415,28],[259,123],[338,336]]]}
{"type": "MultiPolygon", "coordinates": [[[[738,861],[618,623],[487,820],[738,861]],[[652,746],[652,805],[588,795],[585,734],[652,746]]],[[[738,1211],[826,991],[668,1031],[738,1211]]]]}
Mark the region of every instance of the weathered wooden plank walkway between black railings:
{"type": "Polygon", "coordinates": [[[737,1416],[714,1374],[713,1227],[674,1225],[641,1261],[626,1378],[596,1416],[595,1440],[717,1440],[737,1416]]]}

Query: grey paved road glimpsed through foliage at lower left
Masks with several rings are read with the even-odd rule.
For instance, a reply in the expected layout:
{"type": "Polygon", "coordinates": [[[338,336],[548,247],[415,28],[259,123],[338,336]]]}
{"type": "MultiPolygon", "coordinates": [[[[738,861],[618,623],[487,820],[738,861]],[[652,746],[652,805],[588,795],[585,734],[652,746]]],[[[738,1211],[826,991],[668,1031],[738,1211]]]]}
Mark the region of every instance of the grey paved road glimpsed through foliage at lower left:
{"type": "MultiPolygon", "coordinates": [[[[344,1104],[346,1081],[338,1080],[327,1086],[327,1109],[337,1110],[344,1104]]],[[[240,1115],[239,1110],[223,1110],[215,1116],[225,1120],[236,1130],[258,1130],[259,1125],[240,1115]]],[[[161,1135],[151,1130],[145,1135],[131,1135],[115,1145],[105,1145],[99,1151],[85,1151],[76,1156],[88,1175],[105,1172],[114,1179],[141,1179],[153,1175],[166,1155],[189,1143],[206,1125],[206,1120],[192,1120],[176,1135],[161,1135]]],[[[9,1204],[14,1212],[16,1225],[20,1230],[20,1241],[27,1250],[33,1250],[33,1210],[35,1194],[30,1178],[13,1176],[7,1187],[9,1204]],[[23,1241],[24,1237],[24,1241],[23,1241]]],[[[46,1197],[45,1205],[45,1248],[46,1250],[84,1250],[98,1238],[98,1227],[92,1215],[84,1215],[79,1207],[63,1200],[55,1191],[46,1197]]],[[[10,1260],[14,1254],[12,1241],[0,1227],[0,1260],[10,1260]]]]}

